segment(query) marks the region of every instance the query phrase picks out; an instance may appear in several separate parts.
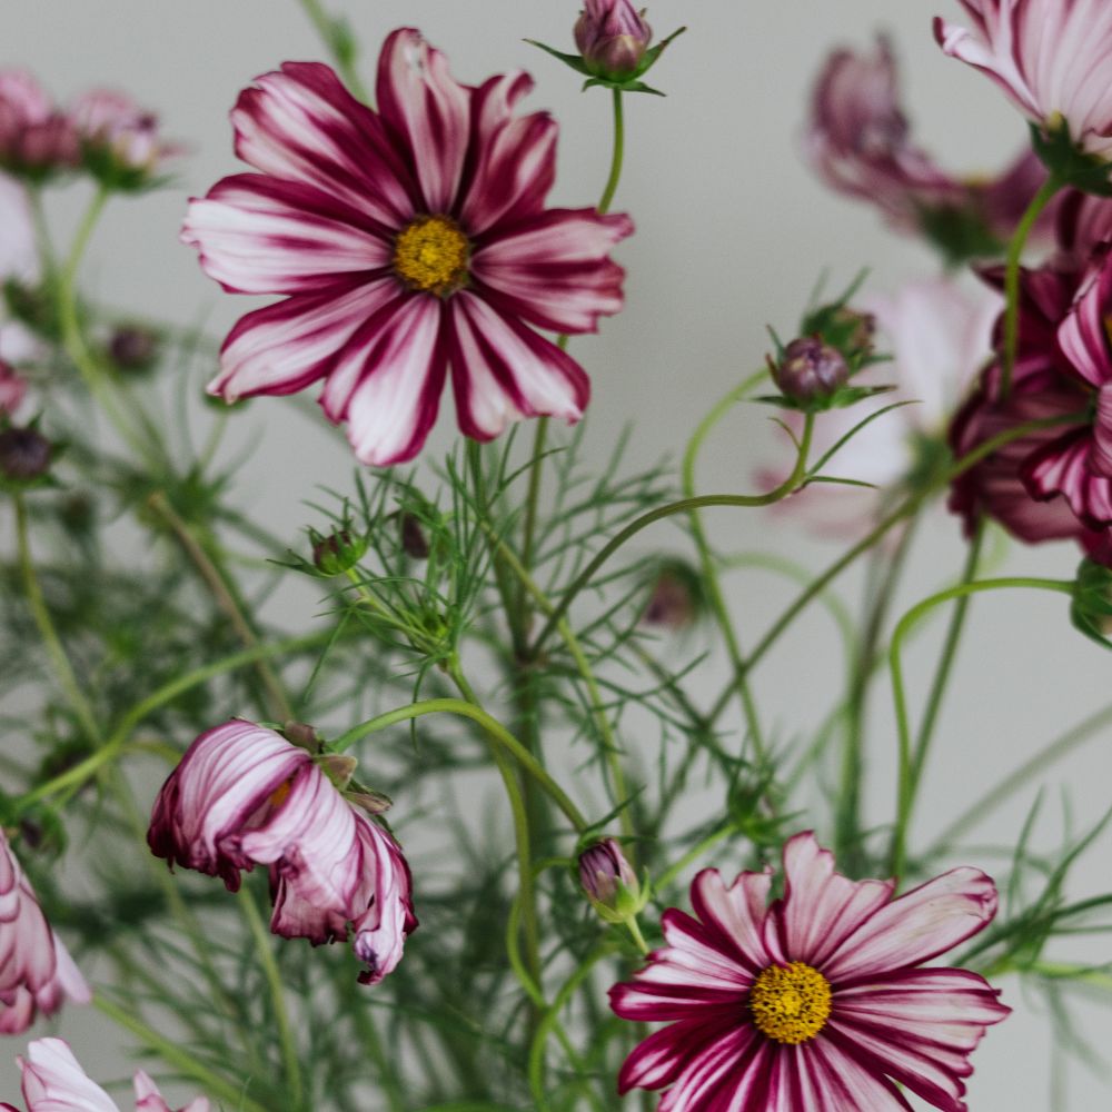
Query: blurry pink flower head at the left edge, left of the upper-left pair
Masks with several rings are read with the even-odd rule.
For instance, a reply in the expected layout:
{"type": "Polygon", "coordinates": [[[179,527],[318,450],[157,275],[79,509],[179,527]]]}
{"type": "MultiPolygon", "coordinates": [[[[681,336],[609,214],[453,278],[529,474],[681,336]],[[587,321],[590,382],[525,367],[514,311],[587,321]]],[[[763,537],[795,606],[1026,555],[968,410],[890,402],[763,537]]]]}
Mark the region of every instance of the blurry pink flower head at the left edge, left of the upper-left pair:
{"type": "Polygon", "coordinates": [[[42,181],[77,165],[77,136],[38,81],[22,70],[0,72],[0,167],[42,181]]]}

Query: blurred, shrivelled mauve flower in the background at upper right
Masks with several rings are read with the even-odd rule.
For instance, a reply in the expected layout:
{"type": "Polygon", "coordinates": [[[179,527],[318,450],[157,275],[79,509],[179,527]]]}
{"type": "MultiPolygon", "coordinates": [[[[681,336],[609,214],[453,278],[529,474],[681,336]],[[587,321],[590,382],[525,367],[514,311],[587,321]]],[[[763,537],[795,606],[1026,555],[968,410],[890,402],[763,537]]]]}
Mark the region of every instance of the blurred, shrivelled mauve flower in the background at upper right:
{"type": "MultiPolygon", "coordinates": [[[[812,165],[832,189],[880,206],[895,228],[925,235],[951,261],[1002,252],[1045,168],[1027,149],[997,177],[947,173],[913,142],[897,77],[883,36],[872,54],[831,54],[812,93],[812,165]]],[[[1051,221],[1044,214],[1039,229],[1051,221]]]]}

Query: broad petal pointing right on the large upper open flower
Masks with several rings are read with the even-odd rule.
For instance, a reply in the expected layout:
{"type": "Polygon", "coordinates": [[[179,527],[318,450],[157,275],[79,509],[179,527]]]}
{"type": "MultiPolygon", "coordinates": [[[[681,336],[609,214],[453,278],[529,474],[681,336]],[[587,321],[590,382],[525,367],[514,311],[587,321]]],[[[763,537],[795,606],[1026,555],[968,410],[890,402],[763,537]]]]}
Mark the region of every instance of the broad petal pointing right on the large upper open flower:
{"type": "Polygon", "coordinates": [[[508,312],[538,328],[589,332],[622,308],[625,271],[608,258],[633,232],[627,216],[549,209],[496,232],[471,259],[471,274],[508,312]]]}

